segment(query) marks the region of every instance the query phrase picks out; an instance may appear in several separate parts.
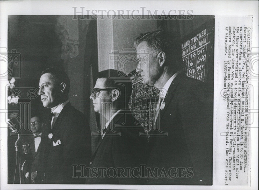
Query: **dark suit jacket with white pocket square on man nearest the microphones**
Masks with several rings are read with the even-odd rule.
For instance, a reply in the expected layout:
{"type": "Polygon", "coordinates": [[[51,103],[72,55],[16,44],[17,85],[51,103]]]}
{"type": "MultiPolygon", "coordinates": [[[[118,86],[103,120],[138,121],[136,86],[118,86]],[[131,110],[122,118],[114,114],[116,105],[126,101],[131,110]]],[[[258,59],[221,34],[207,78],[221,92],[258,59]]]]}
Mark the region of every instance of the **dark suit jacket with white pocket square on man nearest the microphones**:
{"type": "MultiPolygon", "coordinates": [[[[74,168],[72,165],[89,162],[91,157],[91,132],[86,124],[82,112],[76,110],[68,102],[57,117],[51,129],[49,117],[42,131],[41,142],[44,155],[41,159],[41,183],[46,184],[81,184],[85,179],[72,178],[74,168]],[[49,138],[49,133],[53,134],[49,138]],[[60,140],[61,144],[54,146],[60,140]]],[[[79,167],[75,168],[80,170],[79,167]]]]}

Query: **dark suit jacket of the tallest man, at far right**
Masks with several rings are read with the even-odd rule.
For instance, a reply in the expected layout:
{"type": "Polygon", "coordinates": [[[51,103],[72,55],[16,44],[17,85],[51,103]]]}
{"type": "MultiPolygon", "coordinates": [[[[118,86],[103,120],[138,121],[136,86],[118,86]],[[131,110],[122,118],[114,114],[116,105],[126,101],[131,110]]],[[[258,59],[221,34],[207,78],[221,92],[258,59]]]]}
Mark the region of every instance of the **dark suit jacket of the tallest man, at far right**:
{"type": "Polygon", "coordinates": [[[157,119],[160,132],[153,131],[156,135],[163,135],[161,132],[167,135],[150,137],[147,167],[159,167],[159,172],[162,168],[166,172],[172,167],[176,170],[169,170],[172,178],[150,178],[146,183],[212,185],[213,96],[206,94],[203,85],[185,73],[178,74],[171,83],[165,107],[157,119]]]}

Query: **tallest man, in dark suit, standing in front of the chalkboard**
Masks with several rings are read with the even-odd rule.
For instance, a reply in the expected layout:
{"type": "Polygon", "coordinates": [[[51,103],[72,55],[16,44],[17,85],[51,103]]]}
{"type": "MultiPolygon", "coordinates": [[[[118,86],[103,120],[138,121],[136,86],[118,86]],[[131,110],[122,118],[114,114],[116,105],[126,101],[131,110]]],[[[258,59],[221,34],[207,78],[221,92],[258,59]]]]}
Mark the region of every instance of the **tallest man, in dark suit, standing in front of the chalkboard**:
{"type": "Polygon", "coordinates": [[[160,90],[147,167],[168,171],[146,182],[211,185],[213,102],[203,82],[181,71],[181,46],[172,34],[162,30],[140,34],[134,45],[139,53],[136,71],[143,83],[160,90]]]}

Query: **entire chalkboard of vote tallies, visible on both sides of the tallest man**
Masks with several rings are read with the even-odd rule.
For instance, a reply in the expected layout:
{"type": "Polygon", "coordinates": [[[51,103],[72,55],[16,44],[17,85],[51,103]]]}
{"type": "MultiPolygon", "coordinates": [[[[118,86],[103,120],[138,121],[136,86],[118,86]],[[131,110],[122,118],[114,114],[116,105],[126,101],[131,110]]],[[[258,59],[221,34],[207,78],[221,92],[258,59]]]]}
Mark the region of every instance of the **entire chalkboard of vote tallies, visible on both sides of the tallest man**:
{"type": "MultiPolygon", "coordinates": [[[[183,69],[186,75],[208,82],[213,86],[214,73],[214,18],[193,31],[182,40],[183,69]],[[212,83],[212,84],[211,84],[212,83]]],[[[141,123],[147,139],[154,127],[155,110],[158,103],[159,90],[144,85],[140,73],[131,75],[132,94],[129,108],[133,116],[141,123]]],[[[213,92],[213,88],[212,92],[213,92]]]]}

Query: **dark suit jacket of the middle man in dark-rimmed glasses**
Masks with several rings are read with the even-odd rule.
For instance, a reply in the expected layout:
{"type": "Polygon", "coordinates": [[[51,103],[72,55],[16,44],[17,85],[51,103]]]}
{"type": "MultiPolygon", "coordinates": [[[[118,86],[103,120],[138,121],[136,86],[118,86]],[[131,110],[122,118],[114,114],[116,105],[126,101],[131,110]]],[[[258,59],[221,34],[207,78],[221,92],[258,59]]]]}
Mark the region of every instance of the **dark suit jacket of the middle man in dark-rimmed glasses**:
{"type": "MultiPolygon", "coordinates": [[[[141,125],[135,121],[131,113],[124,115],[120,111],[107,127],[105,136],[100,138],[95,153],[93,154],[89,164],[89,174],[86,178],[86,184],[138,184],[139,179],[134,176],[118,175],[119,168],[121,171],[126,167],[140,167],[140,164],[146,163],[147,139],[145,136],[139,136],[143,132],[141,125]],[[135,128],[134,128],[135,127],[135,128]],[[138,127],[138,128],[136,128],[138,127]],[[118,134],[119,133],[119,134],[118,134]],[[113,169],[110,174],[106,174],[100,168],[114,168],[116,174],[113,177],[113,169]],[[91,171],[90,171],[91,170],[91,171]],[[119,178],[117,178],[117,176],[119,178]],[[113,178],[111,178],[113,177],[113,178]],[[120,178],[121,177],[121,178],[120,178]]],[[[109,171],[109,170],[108,170],[109,171]]]]}

